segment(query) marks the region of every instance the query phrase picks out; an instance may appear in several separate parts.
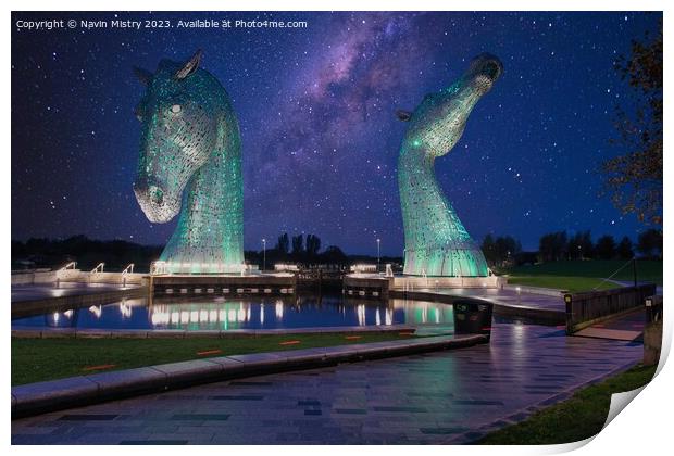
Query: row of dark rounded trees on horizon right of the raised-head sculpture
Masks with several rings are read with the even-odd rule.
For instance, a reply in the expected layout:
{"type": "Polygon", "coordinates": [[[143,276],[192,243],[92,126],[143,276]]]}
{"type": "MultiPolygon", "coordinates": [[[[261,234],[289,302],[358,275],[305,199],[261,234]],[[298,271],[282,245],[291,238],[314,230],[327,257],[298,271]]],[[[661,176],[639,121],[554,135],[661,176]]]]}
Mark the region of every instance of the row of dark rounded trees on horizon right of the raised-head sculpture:
{"type": "Polygon", "coordinates": [[[511,236],[487,235],[482,251],[489,265],[496,267],[563,259],[631,259],[635,254],[657,259],[662,258],[662,231],[646,230],[638,236],[636,243],[627,236],[616,241],[604,235],[595,241],[589,230],[574,235],[556,231],[540,237],[538,252],[523,252],[520,241],[511,236]]]}

